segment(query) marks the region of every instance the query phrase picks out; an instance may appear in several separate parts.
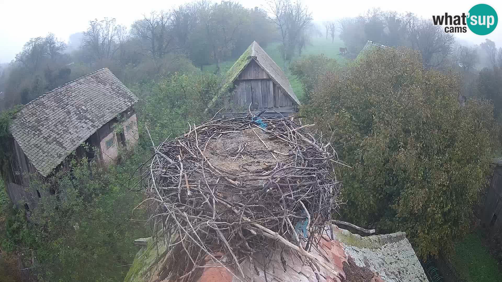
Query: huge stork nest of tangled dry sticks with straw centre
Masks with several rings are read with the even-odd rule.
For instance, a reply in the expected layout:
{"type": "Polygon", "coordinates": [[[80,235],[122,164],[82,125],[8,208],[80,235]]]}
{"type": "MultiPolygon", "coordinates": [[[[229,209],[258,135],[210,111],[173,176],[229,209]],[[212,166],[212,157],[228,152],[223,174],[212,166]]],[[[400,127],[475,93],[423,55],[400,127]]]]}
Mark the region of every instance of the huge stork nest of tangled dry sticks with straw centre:
{"type": "Polygon", "coordinates": [[[331,226],[343,164],[310,128],[295,117],[213,118],[154,145],[143,177],[157,240],[168,246],[159,276],[194,281],[212,258],[246,280],[241,263],[276,248],[336,272],[310,253],[317,242],[307,234],[331,226]]]}

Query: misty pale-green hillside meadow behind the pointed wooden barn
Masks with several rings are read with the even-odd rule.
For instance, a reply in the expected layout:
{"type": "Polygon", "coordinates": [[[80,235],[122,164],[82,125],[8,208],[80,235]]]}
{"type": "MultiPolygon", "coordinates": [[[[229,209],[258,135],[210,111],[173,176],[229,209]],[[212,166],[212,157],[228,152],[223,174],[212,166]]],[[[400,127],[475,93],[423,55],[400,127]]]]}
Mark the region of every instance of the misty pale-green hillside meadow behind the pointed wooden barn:
{"type": "MultiPolygon", "coordinates": [[[[279,42],[275,42],[272,44],[269,44],[265,48],[265,52],[269,54],[269,56],[276,62],[276,64],[282,68],[283,66],[283,60],[281,59],[281,54],[279,53],[279,42]]],[[[344,47],[344,44],[341,40],[335,39],[333,43],[331,43],[331,38],[328,38],[327,40],[324,38],[313,38],[311,40],[311,44],[308,45],[302,52],[302,56],[296,55],[291,62],[297,61],[303,57],[306,57],[308,55],[318,55],[318,54],[324,54],[328,58],[333,58],[336,59],[340,64],[345,64],[346,58],[344,56],[338,55],[338,48],[339,47],[344,47]]],[[[220,64],[220,71],[222,74],[224,74],[228,69],[230,69],[235,62],[237,58],[233,60],[228,60],[224,61],[220,64]]],[[[300,81],[291,74],[289,70],[289,66],[286,66],[286,76],[289,79],[289,82],[291,83],[291,87],[293,88],[293,91],[295,91],[296,96],[301,100],[304,96],[303,89],[302,89],[302,84],[300,81]]],[[[216,69],[216,65],[209,65],[204,67],[204,71],[207,72],[214,72],[216,69]]]]}

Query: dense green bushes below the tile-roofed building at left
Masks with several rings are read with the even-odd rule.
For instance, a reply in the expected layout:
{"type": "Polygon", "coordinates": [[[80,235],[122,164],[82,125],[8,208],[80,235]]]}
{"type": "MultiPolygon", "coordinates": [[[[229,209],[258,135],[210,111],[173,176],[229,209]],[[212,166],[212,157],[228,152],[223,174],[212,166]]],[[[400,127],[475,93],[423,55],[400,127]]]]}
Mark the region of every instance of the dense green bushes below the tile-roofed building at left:
{"type": "MultiPolygon", "coordinates": [[[[138,251],[133,240],[150,234],[144,221],[126,219],[143,200],[128,179],[145,153],[105,172],[85,160],[73,162],[69,172],[31,182],[42,197],[29,221],[24,210],[7,219],[2,246],[32,248],[40,281],[123,279],[138,251]]],[[[146,218],[143,211],[135,218],[146,218]]]]}

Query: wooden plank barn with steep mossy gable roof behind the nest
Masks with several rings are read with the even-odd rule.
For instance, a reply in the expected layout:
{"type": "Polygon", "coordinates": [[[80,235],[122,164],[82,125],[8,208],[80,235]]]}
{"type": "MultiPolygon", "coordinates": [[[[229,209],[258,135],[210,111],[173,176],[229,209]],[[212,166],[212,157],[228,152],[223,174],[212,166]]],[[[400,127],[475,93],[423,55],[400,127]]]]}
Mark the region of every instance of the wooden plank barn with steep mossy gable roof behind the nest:
{"type": "Polygon", "coordinates": [[[286,74],[256,41],[226,73],[222,85],[221,114],[245,115],[251,110],[288,116],[298,112],[300,101],[286,74]]]}

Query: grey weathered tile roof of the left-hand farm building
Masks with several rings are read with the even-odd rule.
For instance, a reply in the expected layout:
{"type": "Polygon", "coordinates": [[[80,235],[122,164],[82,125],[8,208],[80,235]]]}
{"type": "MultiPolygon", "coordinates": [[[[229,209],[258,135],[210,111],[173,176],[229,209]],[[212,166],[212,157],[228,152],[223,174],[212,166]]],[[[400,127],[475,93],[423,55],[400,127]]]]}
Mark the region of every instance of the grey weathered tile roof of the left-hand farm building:
{"type": "Polygon", "coordinates": [[[137,101],[103,68],[26,104],[10,131],[37,171],[47,176],[97,129],[137,101]]]}

